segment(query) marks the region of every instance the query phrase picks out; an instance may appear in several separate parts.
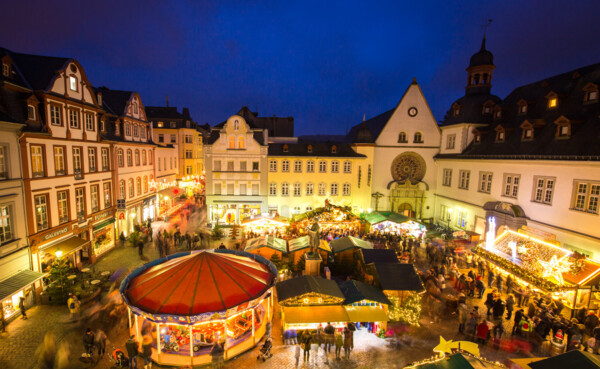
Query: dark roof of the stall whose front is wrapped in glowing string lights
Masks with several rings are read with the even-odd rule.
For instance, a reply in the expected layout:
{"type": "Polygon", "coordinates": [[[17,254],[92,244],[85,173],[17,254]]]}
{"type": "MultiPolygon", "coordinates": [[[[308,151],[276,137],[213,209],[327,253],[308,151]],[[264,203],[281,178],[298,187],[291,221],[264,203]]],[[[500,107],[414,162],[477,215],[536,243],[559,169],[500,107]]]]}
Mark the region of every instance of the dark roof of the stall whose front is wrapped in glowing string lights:
{"type": "Polygon", "coordinates": [[[373,263],[379,286],[386,291],[423,291],[425,287],[412,264],[373,263]]]}

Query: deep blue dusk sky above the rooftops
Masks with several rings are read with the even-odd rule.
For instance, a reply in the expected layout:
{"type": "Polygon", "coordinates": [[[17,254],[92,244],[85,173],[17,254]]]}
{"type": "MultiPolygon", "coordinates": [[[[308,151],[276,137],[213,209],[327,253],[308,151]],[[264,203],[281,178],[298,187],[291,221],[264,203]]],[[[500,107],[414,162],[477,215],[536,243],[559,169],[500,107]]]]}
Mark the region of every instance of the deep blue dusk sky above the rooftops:
{"type": "Polygon", "coordinates": [[[487,46],[492,93],[600,62],[600,1],[11,1],[0,46],[72,57],[95,86],[200,124],[246,105],[296,135],[342,134],[393,108],[413,77],[439,121],[487,46]]]}

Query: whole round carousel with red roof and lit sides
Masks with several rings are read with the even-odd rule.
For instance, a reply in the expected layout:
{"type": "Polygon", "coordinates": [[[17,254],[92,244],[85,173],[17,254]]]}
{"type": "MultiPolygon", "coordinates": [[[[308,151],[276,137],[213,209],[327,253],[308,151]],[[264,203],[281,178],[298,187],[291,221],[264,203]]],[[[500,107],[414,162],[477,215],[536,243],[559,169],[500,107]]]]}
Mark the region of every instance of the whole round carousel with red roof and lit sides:
{"type": "Polygon", "coordinates": [[[225,359],[254,347],[273,315],[277,269],[242,251],[169,255],[135,269],[121,284],[129,329],[152,340],[161,365],[204,365],[215,342],[225,359]]]}

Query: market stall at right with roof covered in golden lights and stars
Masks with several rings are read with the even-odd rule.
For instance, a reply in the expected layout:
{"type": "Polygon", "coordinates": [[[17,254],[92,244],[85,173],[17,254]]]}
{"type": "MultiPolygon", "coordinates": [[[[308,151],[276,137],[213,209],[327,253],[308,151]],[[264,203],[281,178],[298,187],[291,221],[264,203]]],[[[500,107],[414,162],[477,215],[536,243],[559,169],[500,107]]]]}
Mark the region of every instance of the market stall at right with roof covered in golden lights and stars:
{"type": "Polygon", "coordinates": [[[563,314],[600,308],[600,263],[560,247],[557,242],[535,238],[523,231],[506,230],[495,240],[480,243],[475,252],[521,285],[551,293],[564,305],[563,314]]]}

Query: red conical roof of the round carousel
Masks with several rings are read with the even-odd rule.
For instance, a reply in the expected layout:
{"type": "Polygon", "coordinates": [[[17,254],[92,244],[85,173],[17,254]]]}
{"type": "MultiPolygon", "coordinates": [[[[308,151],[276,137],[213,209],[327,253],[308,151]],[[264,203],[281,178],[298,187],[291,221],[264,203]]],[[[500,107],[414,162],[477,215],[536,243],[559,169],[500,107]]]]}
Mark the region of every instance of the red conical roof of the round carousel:
{"type": "Polygon", "coordinates": [[[273,284],[269,268],[248,257],[193,252],[155,265],[133,278],[125,294],[152,314],[197,315],[253,300],[273,284]]]}

